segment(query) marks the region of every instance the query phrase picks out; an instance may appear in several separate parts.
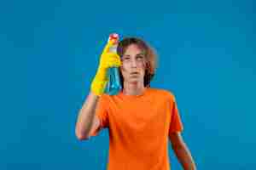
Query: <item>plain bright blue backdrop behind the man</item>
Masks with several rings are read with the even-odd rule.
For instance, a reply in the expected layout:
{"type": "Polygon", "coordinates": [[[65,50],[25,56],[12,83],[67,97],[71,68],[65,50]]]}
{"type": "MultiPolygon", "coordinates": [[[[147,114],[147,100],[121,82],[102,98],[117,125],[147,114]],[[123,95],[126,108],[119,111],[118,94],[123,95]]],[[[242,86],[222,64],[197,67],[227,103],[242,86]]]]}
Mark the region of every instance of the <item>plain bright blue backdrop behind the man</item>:
{"type": "MultiPolygon", "coordinates": [[[[159,54],[198,169],[256,167],[255,2],[1,1],[0,169],[105,169],[108,131],[74,128],[108,34],[159,54]]],[[[170,148],[172,169],[182,169],[170,148]]]]}

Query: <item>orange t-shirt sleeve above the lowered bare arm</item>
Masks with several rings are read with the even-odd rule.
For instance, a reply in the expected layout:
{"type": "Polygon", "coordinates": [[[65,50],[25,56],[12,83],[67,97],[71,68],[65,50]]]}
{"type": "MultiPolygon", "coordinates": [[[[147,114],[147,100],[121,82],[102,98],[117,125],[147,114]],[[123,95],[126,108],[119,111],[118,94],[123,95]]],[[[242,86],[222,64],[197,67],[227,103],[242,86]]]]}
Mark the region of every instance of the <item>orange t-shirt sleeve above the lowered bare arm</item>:
{"type": "Polygon", "coordinates": [[[179,111],[177,109],[177,102],[172,95],[171,99],[171,122],[169,128],[169,134],[173,132],[181,132],[183,131],[183,122],[181,121],[181,117],[179,115],[179,111]]]}

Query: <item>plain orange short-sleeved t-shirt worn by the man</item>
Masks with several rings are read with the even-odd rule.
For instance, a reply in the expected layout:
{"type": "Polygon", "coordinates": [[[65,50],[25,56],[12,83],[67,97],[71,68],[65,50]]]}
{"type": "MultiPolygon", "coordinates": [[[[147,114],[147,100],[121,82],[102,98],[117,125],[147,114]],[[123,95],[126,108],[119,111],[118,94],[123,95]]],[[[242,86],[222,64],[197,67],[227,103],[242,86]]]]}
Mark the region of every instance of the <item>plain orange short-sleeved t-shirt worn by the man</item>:
{"type": "Polygon", "coordinates": [[[141,95],[102,94],[96,106],[101,125],[108,127],[108,170],[170,170],[168,135],[182,131],[174,95],[146,88],[141,95]]]}

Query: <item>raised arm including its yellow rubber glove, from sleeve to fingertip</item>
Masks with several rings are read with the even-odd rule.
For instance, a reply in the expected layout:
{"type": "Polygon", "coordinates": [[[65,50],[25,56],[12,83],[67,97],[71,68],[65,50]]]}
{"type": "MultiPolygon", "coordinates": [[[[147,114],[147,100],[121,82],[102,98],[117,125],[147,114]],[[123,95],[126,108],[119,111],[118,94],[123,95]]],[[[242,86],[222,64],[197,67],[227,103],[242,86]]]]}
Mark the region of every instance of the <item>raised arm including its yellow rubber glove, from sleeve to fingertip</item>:
{"type": "Polygon", "coordinates": [[[104,94],[105,87],[108,83],[108,68],[119,67],[121,65],[120,56],[109,50],[116,42],[116,35],[114,38],[110,37],[107,45],[103,49],[96,76],[90,84],[90,94],[79,111],[75,133],[80,140],[89,139],[90,132],[100,127],[100,120],[96,116],[96,105],[101,94],[104,94]]]}

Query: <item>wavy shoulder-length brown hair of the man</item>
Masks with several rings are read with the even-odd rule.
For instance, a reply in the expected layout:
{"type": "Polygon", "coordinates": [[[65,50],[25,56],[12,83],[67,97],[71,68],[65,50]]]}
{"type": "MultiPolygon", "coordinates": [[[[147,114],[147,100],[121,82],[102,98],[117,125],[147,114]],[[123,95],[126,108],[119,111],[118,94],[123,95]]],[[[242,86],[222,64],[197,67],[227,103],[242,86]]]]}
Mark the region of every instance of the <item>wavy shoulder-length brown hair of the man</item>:
{"type": "MultiPolygon", "coordinates": [[[[125,37],[122,41],[120,41],[117,48],[117,54],[119,54],[119,56],[122,58],[122,56],[125,54],[126,48],[131,44],[136,44],[138,48],[143,50],[143,53],[146,56],[144,86],[150,87],[150,82],[153,79],[156,71],[157,55],[155,54],[154,49],[151,48],[148,43],[137,37],[125,37]]],[[[120,69],[119,73],[122,88],[124,88],[124,77],[122,76],[120,69]]]]}

